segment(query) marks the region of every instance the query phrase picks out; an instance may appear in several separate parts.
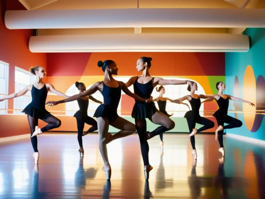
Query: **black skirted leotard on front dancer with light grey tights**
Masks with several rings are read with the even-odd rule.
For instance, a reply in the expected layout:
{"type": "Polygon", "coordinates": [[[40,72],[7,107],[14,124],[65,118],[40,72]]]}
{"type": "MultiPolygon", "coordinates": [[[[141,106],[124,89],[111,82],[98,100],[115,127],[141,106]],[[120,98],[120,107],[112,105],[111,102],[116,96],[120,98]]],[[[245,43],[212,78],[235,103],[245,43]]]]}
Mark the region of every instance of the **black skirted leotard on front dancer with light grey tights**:
{"type": "Polygon", "coordinates": [[[118,118],[117,109],[121,99],[121,85],[119,82],[118,84],[118,87],[113,88],[103,83],[103,90],[101,94],[104,98],[104,104],[99,105],[95,111],[94,117],[107,118],[109,122],[118,118]]]}

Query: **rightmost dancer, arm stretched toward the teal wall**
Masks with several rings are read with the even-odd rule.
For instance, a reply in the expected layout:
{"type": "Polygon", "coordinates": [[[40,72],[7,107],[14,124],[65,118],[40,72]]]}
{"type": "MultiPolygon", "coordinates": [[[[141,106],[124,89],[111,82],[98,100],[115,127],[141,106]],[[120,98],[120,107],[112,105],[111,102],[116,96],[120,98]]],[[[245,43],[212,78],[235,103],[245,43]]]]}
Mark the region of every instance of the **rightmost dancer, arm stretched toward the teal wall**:
{"type": "Polygon", "coordinates": [[[216,88],[218,90],[218,94],[210,96],[210,95],[200,95],[201,98],[208,98],[204,102],[210,102],[214,99],[216,100],[219,109],[213,114],[213,116],[216,118],[218,123],[218,128],[215,131],[215,140],[219,141],[220,149],[219,152],[222,153],[224,157],[224,145],[223,145],[223,129],[230,129],[230,128],[237,128],[242,126],[242,122],[236,118],[233,118],[229,115],[227,115],[228,106],[229,106],[229,99],[249,103],[250,106],[255,106],[253,103],[246,101],[244,99],[240,99],[237,97],[233,97],[231,95],[224,95],[223,90],[226,89],[226,85],[219,81],[216,84],[216,88]],[[227,123],[228,125],[224,126],[224,123],[227,123]]]}

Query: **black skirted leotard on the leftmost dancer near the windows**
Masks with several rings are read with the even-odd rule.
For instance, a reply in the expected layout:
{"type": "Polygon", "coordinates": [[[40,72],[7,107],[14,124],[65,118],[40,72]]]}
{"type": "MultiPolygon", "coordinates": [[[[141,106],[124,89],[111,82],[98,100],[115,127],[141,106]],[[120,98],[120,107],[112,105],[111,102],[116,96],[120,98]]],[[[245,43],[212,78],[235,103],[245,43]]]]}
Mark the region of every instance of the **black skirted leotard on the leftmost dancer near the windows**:
{"type": "Polygon", "coordinates": [[[44,86],[41,89],[37,89],[32,85],[31,97],[32,101],[22,111],[23,113],[35,118],[35,119],[46,119],[51,114],[45,109],[45,102],[47,98],[47,87],[44,86]]]}

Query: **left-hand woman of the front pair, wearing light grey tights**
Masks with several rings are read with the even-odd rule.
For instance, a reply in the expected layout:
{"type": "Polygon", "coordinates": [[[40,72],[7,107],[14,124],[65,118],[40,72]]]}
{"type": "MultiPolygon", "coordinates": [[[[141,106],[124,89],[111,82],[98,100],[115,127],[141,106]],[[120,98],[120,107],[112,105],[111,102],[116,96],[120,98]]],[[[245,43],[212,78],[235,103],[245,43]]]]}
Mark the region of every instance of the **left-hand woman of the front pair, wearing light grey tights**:
{"type": "Polygon", "coordinates": [[[105,60],[99,61],[98,66],[102,68],[105,73],[103,81],[93,84],[90,89],[85,92],[79,93],[72,97],[57,102],[47,102],[51,105],[59,103],[71,102],[95,93],[97,90],[101,92],[104,98],[104,104],[99,105],[95,111],[94,117],[97,118],[99,130],[99,150],[104,161],[103,170],[106,172],[107,180],[111,178],[111,166],[109,164],[108,152],[106,144],[112,140],[131,135],[136,132],[135,125],[124,118],[120,117],[117,113],[118,105],[121,98],[121,90],[130,97],[135,98],[139,102],[152,102],[152,97],[144,99],[138,95],[131,93],[130,90],[122,81],[116,81],[112,75],[118,74],[118,68],[114,61],[105,60]],[[118,133],[111,135],[108,133],[109,125],[121,129],[118,133]]]}

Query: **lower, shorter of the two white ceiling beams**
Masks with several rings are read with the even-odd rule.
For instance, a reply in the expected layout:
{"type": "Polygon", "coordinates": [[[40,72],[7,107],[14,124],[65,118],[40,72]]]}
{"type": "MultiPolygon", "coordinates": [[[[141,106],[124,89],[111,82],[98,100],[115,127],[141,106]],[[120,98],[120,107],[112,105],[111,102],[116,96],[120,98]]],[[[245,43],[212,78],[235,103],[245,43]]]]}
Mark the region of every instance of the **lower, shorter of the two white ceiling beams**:
{"type": "Polygon", "coordinates": [[[33,53],[247,52],[249,37],[226,33],[143,33],[32,36],[33,53]]]}

